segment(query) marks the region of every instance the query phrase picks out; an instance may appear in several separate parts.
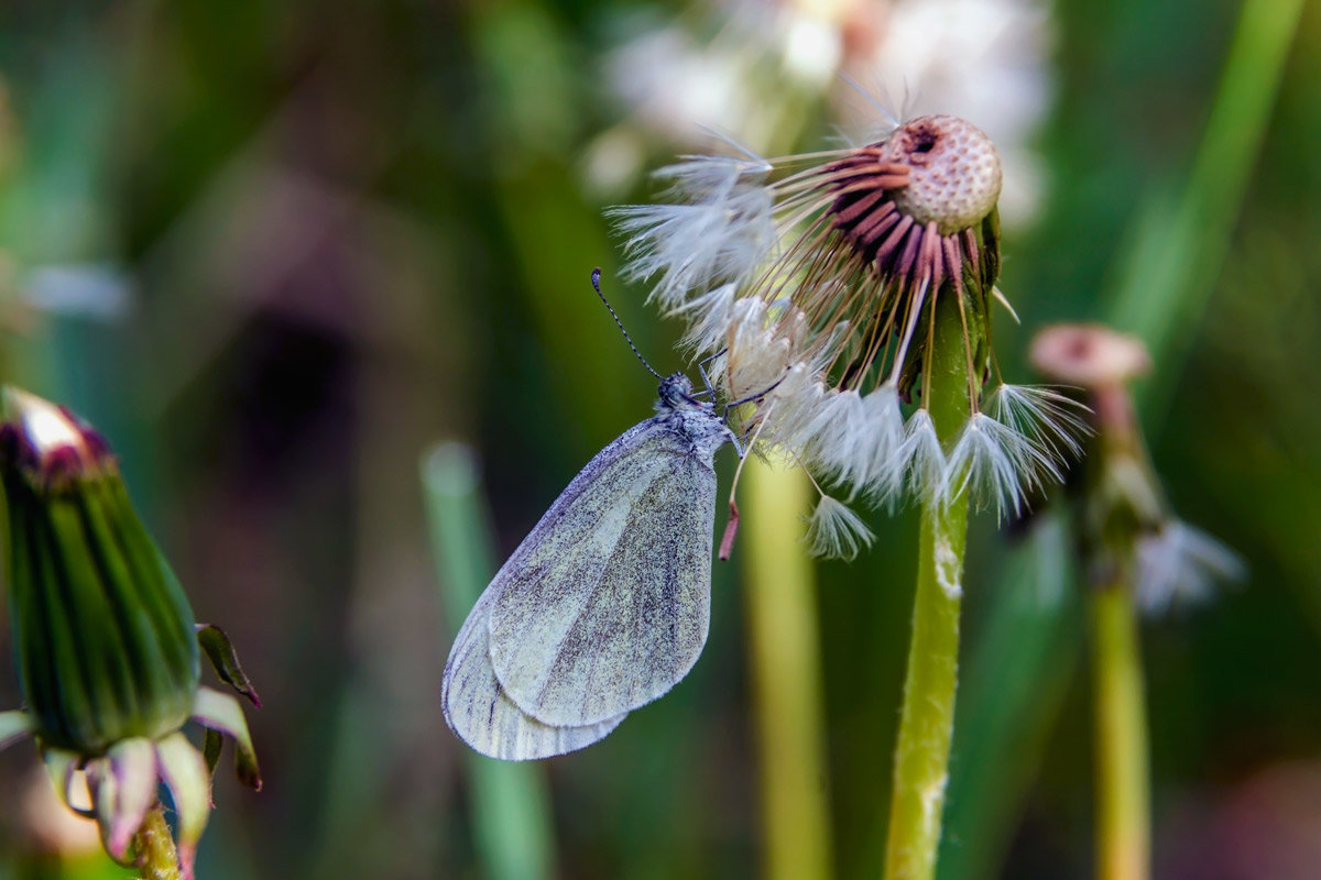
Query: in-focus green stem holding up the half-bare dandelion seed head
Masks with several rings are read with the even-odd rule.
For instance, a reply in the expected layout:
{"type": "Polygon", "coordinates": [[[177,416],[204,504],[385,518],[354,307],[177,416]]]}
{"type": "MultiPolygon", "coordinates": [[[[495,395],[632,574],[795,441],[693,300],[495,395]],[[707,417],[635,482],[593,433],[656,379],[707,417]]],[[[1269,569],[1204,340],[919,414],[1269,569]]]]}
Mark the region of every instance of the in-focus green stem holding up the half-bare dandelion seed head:
{"type": "MultiPolygon", "coordinates": [[[[935,321],[930,387],[923,393],[937,434],[948,449],[968,417],[963,323],[952,297],[945,297],[935,321]]],[[[913,633],[890,792],[888,880],[935,876],[954,735],[967,524],[967,492],[943,501],[929,497],[922,504],[913,633]]]]}

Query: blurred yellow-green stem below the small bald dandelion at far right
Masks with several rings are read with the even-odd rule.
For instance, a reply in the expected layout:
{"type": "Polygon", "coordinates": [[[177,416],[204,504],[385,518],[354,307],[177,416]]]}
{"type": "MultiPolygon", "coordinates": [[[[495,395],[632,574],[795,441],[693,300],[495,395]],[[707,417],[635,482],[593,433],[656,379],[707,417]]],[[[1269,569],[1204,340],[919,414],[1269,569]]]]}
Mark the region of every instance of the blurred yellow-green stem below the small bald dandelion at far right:
{"type": "Polygon", "coordinates": [[[1151,864],[1147,711],[1137,615],[1128,586],[1102,586],[1091,608],[1098,880],[1145,880],[1151,864]]]}

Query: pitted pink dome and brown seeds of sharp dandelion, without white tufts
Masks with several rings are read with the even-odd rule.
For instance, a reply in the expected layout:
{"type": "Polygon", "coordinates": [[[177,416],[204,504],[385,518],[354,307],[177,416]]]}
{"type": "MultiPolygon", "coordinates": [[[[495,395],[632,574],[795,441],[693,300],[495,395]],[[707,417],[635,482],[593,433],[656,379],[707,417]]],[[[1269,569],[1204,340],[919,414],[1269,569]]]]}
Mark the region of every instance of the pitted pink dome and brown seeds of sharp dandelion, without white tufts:
{"type": "Polygon", "coordinates": [[[999,269],[995,148],[970,123],[923,116],[867,146],[778,166],[778,247],[745,296],[793,302],[808,327],[798,348],[823,363],[831,389],[893,383],[908,396],[917,373],[904,367],[921,361],[918,325],[942,288],[970,296],[966,276],[980,288],[999,269]]]}

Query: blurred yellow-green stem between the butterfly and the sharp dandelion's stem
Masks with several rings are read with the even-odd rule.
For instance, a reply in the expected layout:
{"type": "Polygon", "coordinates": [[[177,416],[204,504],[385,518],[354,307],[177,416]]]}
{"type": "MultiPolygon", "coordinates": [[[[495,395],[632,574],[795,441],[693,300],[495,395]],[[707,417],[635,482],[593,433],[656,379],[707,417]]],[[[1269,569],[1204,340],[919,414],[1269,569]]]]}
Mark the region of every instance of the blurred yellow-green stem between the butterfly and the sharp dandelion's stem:
{"type": "Polygon", "coordinates": [[[744,475],[749,661],[757,698],[765,876],[831,876],[816,581],[802,546],[802,471],[750,459],[744,475]]]}

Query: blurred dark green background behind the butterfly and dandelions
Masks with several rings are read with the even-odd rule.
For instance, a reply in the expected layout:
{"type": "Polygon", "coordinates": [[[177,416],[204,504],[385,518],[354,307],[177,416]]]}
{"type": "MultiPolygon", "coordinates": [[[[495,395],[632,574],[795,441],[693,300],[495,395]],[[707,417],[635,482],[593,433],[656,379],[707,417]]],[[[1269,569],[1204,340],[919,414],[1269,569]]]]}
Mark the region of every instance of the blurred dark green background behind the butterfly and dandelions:
{"type": "MultiPolygon", "coordinates": [[[[1314,876],[1321,11],[1300,5],[4,4],[0,372],[104,430],[266,703],[266,790],[219,776],[199,876],[491,871],[474,761],[439,710],[461,619],[420,456],[477,450],[503,558],[654,400],[592,267],[657,368],[682,365],[678,322],[618,281],[602,207],[653,195],[646,173],[699,149],[699,123],[830,144],[860,104],[840,74],[997,137],[1022,317],[997,327],[1007,373],[1029,377],[1052,321],[1140,331],[1172,504],[1251,566],[1144,628],[1157,876],[1314,876]]],[[[818,566],[847,877],[884,851],[913,574],[911,513],[869,519],[869,554],[818,566]]],[[[945,880],[1090,876],[1066,550],[1057,522],[974,526],[945,880]]],[[[553,876],[762,872],[738,565],[716,566],[711,639],[674,693],[527,772],[553,876]]],[[[17,705],[12,673],[0,697],[17,705]]],[[[0,877],[124,876],[90,823],[52,814],[36,767],[0,756],[0,877]]]]}

